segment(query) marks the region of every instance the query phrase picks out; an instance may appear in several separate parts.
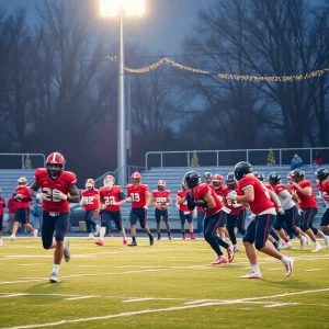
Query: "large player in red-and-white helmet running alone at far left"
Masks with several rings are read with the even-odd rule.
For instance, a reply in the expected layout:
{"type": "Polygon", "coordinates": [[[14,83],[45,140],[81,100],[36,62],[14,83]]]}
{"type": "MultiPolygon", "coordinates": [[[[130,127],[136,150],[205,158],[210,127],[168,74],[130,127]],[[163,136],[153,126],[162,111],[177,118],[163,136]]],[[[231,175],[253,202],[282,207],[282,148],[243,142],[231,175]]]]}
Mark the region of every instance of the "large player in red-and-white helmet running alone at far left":
{"type": "Polygon", "coordinates": [[[70,202],[79,202],[73,172],[65,171],[65,158],[59,152],[50,154],[46,159],[46,168],[38,168],[31,185],[32,195],[42,200],[43,227],[42,240],[44,249],[55,249],[54,265],[49,277],[52,283],[58,281],[58,271],[64,258],[70,260],[69,241],[64,241],[69,227],[70,202]],[[41,193],[37,190],[41,189],[41,193]],[[54,239],[55,234],[55,239],[54,239]]]}

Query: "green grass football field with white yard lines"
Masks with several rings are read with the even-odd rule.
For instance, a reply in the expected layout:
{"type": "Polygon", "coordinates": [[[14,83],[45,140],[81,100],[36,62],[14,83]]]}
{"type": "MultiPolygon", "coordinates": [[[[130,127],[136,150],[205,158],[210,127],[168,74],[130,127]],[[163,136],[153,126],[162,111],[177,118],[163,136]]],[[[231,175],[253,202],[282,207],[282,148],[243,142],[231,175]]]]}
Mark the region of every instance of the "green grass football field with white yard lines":
{"type": "Polygon", "coordinates": [[[70,241],[71,261],[50,284],[53,251],[39,239],[3,239],[0,328],[329,328],[329,251],[299,251],[294,241],[285,252],[296,258],[292,277],[261,256],[263,279],[241,280],[245,251],[214,268],[202,239],[70,241]]]}

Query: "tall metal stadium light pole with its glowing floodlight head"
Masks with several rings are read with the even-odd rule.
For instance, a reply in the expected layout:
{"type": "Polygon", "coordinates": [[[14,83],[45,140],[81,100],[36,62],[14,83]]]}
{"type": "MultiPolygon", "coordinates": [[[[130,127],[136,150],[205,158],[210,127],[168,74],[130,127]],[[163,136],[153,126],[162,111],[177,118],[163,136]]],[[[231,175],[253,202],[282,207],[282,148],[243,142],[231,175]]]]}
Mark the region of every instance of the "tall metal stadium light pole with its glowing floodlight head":
{"type": "Polygon", "coordinates": [[[120,15],[118,102],[117,102],[117,183],[127,183],[127,144],[125,113],[125,58],[123,21],[126,15],[141,15],[144,0],[100,0],[102,16],[120,15]]]}

